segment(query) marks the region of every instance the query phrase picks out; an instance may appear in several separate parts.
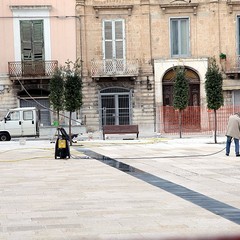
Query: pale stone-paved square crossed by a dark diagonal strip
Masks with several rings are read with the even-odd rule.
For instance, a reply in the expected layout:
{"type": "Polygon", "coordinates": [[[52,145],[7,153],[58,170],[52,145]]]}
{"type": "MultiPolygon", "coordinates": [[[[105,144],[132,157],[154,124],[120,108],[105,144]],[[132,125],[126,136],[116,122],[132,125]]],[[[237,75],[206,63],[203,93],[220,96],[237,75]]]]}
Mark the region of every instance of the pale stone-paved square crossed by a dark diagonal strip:
{"type": "Polygon", "coordinates": [[[218,142],[79,141],[57,160],[49,141],[0,142],[0,239],[240,236],[240,158],[218,142]]]}

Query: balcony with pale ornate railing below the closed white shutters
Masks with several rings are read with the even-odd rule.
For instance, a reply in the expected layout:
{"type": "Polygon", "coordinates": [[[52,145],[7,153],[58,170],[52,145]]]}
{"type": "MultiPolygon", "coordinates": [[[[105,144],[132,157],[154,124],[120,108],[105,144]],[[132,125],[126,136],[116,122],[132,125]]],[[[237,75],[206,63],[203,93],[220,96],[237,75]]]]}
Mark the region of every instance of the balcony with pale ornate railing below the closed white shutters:
{"type": "Polygon", "coordinates": [[[134,77],[138,76],[138,60],[107,59],[91,61],[91,77],[134,77]]]}

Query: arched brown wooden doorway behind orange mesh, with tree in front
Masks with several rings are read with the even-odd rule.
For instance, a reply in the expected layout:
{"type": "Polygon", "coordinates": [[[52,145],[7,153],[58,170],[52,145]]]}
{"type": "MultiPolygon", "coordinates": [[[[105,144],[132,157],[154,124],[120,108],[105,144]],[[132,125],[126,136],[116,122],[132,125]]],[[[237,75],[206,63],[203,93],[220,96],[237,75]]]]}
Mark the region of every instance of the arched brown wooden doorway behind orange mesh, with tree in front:
{"type": "MultiPolygon", "coordinates": [[[[189,82],[188,107],[183,111],[182,124],[184,131],[200,130],[200,78],[191,68],[185,67],[189,82]]],[[[163,76],[163,120],[165,132],[178,131],[178,111],[173,108],[173,84],[175,71],[169,69],[163,76]]]]}

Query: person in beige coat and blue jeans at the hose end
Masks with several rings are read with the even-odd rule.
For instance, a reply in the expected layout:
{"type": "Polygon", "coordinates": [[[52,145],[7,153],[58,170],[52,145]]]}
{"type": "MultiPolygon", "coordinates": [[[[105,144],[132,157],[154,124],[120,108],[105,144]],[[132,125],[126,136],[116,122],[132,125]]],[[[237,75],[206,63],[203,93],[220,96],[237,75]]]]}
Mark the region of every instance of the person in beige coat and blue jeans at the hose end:
{"type": "Polygon", "coordinates": [[[231,142],[233,139],[235,144],[236,157],[240,157],[239,155],[240,113],[235,113],[234,115],[231,115],[229,117],[226,136],[227,136],[226,155],[229,156],[231,142]]]}

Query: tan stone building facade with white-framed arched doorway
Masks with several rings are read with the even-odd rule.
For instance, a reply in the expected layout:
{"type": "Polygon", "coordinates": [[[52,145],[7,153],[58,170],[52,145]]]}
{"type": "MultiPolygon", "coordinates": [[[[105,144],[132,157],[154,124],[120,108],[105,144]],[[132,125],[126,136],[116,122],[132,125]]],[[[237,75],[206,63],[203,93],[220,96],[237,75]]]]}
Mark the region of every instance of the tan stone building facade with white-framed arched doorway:
{"type": "Polygon", "coordinates": [[[174,68],[184,66],[193,125],[204,129],[211,57],[224,76],[225,104],[240,104],[239,1],[77,0],[76,15],[89,128],[138,124],[140,133],[166,132],[174,68]]]}

